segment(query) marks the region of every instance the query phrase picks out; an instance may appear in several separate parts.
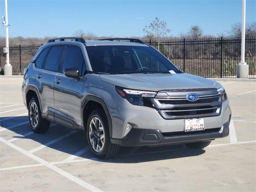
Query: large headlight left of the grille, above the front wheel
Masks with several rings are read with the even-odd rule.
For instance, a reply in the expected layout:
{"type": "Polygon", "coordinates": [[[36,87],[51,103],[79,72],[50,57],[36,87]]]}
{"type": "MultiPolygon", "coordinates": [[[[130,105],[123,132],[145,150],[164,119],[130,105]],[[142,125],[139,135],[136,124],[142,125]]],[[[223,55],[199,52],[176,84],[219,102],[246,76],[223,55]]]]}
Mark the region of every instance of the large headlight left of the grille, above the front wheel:
{"type": "Polygon", "coordinates": [[[156,92],[153,91],[132,90],[118,86],[116,86],[116,92],[131,104],[140,106],[144,106],[144,98],[153,98],[156,96],[156,92]]]}

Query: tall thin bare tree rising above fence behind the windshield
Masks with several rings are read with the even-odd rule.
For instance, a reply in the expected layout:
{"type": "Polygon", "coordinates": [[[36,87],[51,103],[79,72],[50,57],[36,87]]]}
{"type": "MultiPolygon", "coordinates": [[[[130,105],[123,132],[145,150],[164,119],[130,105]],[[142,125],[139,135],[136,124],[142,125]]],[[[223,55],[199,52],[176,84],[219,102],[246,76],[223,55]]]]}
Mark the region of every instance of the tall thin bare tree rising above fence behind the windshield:
{"type": "Polygon", "coordinates": [[[143,31],[146,33],[148,38],[155,38],[157,40],[159,50],[161,39],[171,30],[167,28],[165,21],[160,21],[160,19],[156,17],[149,26],[145,26],[143,31]]]}

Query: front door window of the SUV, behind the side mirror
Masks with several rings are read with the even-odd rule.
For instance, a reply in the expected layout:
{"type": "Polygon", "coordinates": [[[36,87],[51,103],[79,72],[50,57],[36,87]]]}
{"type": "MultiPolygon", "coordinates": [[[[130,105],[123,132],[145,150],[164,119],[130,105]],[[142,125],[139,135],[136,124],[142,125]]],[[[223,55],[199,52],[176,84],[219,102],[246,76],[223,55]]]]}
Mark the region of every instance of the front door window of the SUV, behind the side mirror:
{"type": "Polygon", "coordinates": [[[84,57],[78,46],[68,46],[62,65],[62,73],[64,69],[70,67],[77,67],[80,76],[83,76],[85,73],[84,57]]]}

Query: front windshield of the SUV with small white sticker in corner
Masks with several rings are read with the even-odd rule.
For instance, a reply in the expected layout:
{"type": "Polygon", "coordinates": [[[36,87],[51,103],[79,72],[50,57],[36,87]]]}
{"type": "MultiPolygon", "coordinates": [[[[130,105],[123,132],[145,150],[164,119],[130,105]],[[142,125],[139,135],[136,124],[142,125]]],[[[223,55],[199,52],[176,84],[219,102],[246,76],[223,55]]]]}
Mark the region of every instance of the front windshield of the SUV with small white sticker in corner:
{"type": "Polygon", "coordinates": [[[174,64],[149,46],[86,46],[86,50],[96,73],[170,73],[171,70],[180,73],[174,64]]]}

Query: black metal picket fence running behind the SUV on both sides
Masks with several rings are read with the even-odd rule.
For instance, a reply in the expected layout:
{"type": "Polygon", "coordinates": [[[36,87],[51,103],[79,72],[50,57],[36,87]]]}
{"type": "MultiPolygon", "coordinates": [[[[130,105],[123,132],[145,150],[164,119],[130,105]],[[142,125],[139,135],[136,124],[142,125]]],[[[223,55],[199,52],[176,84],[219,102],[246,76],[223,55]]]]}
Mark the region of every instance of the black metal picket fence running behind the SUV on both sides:
{"type": "MultiPolygon", "coordinates": [[[[183,72],[203,77],[236,78],[236,65],[240,62],[241,39],[238,38],[202,38],[169,39],[158,42],[144,40],[159,49],[183,72]]],[[[41,45],[10,46],[10,63],[13,74],[23,74],[41,45]]],[[[245,58],[249,65],[249,78],[256,78],[256,37],[245,41],[245,58]]],[[[6,56],[0,46],[0,66],[4,66],[6,56]]]]}

